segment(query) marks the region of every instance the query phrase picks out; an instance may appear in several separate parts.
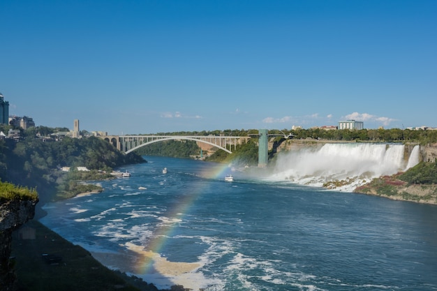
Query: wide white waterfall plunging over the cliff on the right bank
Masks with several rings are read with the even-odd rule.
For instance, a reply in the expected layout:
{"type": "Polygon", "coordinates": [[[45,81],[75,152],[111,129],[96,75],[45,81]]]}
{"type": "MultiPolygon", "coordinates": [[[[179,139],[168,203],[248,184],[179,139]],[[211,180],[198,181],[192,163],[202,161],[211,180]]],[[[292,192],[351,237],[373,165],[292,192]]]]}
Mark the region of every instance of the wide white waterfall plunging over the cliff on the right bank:
{"type": "Polygon", "coordinates": [[[336,188],[353,191],[357,186],[383,175],[403,172],[419,163],[419,146],[405,161],[402,144],[325,144],[280,153],[270,179],[296,184],[323,186],[343,181],[336,188]]]}

